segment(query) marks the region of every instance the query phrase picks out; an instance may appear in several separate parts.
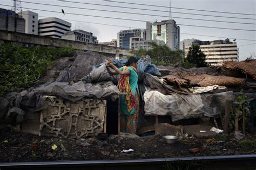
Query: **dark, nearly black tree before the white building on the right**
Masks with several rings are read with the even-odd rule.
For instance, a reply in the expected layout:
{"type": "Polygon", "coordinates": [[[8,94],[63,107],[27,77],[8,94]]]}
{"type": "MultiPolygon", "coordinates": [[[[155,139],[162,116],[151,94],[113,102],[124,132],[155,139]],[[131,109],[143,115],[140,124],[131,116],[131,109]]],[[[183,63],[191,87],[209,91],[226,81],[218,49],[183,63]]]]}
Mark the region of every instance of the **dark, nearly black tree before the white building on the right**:
{"type": "Polygon", "coordinates": [[[199,45],[192,45],[187,53],[186,60],[189,63],[195,64],[197,67],[206,67],[205,54],[200,50],[199,45]]]}

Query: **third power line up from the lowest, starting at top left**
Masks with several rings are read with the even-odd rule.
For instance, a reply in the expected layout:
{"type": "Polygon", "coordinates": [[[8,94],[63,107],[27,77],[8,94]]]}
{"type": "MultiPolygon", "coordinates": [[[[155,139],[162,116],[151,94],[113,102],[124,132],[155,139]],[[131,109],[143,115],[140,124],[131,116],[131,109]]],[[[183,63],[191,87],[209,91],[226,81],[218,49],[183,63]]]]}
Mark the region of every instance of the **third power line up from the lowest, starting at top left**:
{"type": "MultiPolygon", "coordinates": [[[[123,11],[110,11],[110,10],[100,10],[100,9],[91,9],[91,8],[81,8],[81,7],[64,6],[64,5],[52,5],[52,4],[44,4],[44,3],[36,3],[36,2],[26,2],[26,1],[22,1],[22,2],[23,2],[23,3],[30,3],[30,4],[58,6],[58,7],[65,7],[65,8],[75,8],[75,9],[85,9],[85,10],[96,10],[96,11],[106,11],[106,12],[117,12],[117,13],[129,13],[129,14],[145,15],[145,16],[168,17],[168,16],[163,16],[163,15],[152,15],[152,14],[146,14],[146,13],[133,13],[133,12],[123,12],[123,11]]],[[[253,24],[253,25],[256,25],[256,23],[240,23],[240,22],[229,22],[229,21],[217,21],[217,20],[210,20],[210,19],[197,19],[197,18],[184,18],[184,17],[172,17],[172,18],[192,19],[192,20],[198,20],[198,21],[210,21],[210,22],[223,22],[223,23],[253,24]]]]}

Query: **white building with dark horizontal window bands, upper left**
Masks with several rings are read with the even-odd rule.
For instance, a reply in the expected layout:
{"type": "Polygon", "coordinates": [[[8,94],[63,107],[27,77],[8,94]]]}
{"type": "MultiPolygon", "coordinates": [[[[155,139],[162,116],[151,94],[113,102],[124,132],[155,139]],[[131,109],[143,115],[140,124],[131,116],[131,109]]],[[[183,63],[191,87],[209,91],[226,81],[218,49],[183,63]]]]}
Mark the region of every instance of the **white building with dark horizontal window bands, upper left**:
{"type": "Polygon", "coordinates": [[[59,18],[44,18],[38,21],[38,35],[61,38],[66,32],[71,31],[71,23],[59,18]]]}

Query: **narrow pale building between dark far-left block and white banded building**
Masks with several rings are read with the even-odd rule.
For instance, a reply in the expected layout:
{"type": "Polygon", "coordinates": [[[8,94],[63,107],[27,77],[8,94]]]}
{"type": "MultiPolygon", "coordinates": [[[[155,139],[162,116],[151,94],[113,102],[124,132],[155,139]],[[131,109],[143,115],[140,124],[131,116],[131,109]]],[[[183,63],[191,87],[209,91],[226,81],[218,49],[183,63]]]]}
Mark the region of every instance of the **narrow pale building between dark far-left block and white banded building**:
{"type": "Polygon", "coordinates": [[[25,33],[38,35],[38,13],[22,11],[18,15],[25,19],[25,33]]]}

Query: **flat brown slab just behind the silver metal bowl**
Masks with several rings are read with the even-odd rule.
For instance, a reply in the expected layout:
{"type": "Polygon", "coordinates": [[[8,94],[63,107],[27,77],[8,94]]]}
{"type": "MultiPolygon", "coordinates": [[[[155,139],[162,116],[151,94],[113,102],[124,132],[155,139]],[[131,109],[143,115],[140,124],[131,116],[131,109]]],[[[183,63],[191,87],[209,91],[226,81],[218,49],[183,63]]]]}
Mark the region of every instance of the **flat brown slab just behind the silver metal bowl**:
{"type": "Polygon", "coordinates": [[[177,133],[181,133],[181,126],[174,126],[168,123],[154,124],[154,130],[156,134],[175,135],[177,133]]]}

